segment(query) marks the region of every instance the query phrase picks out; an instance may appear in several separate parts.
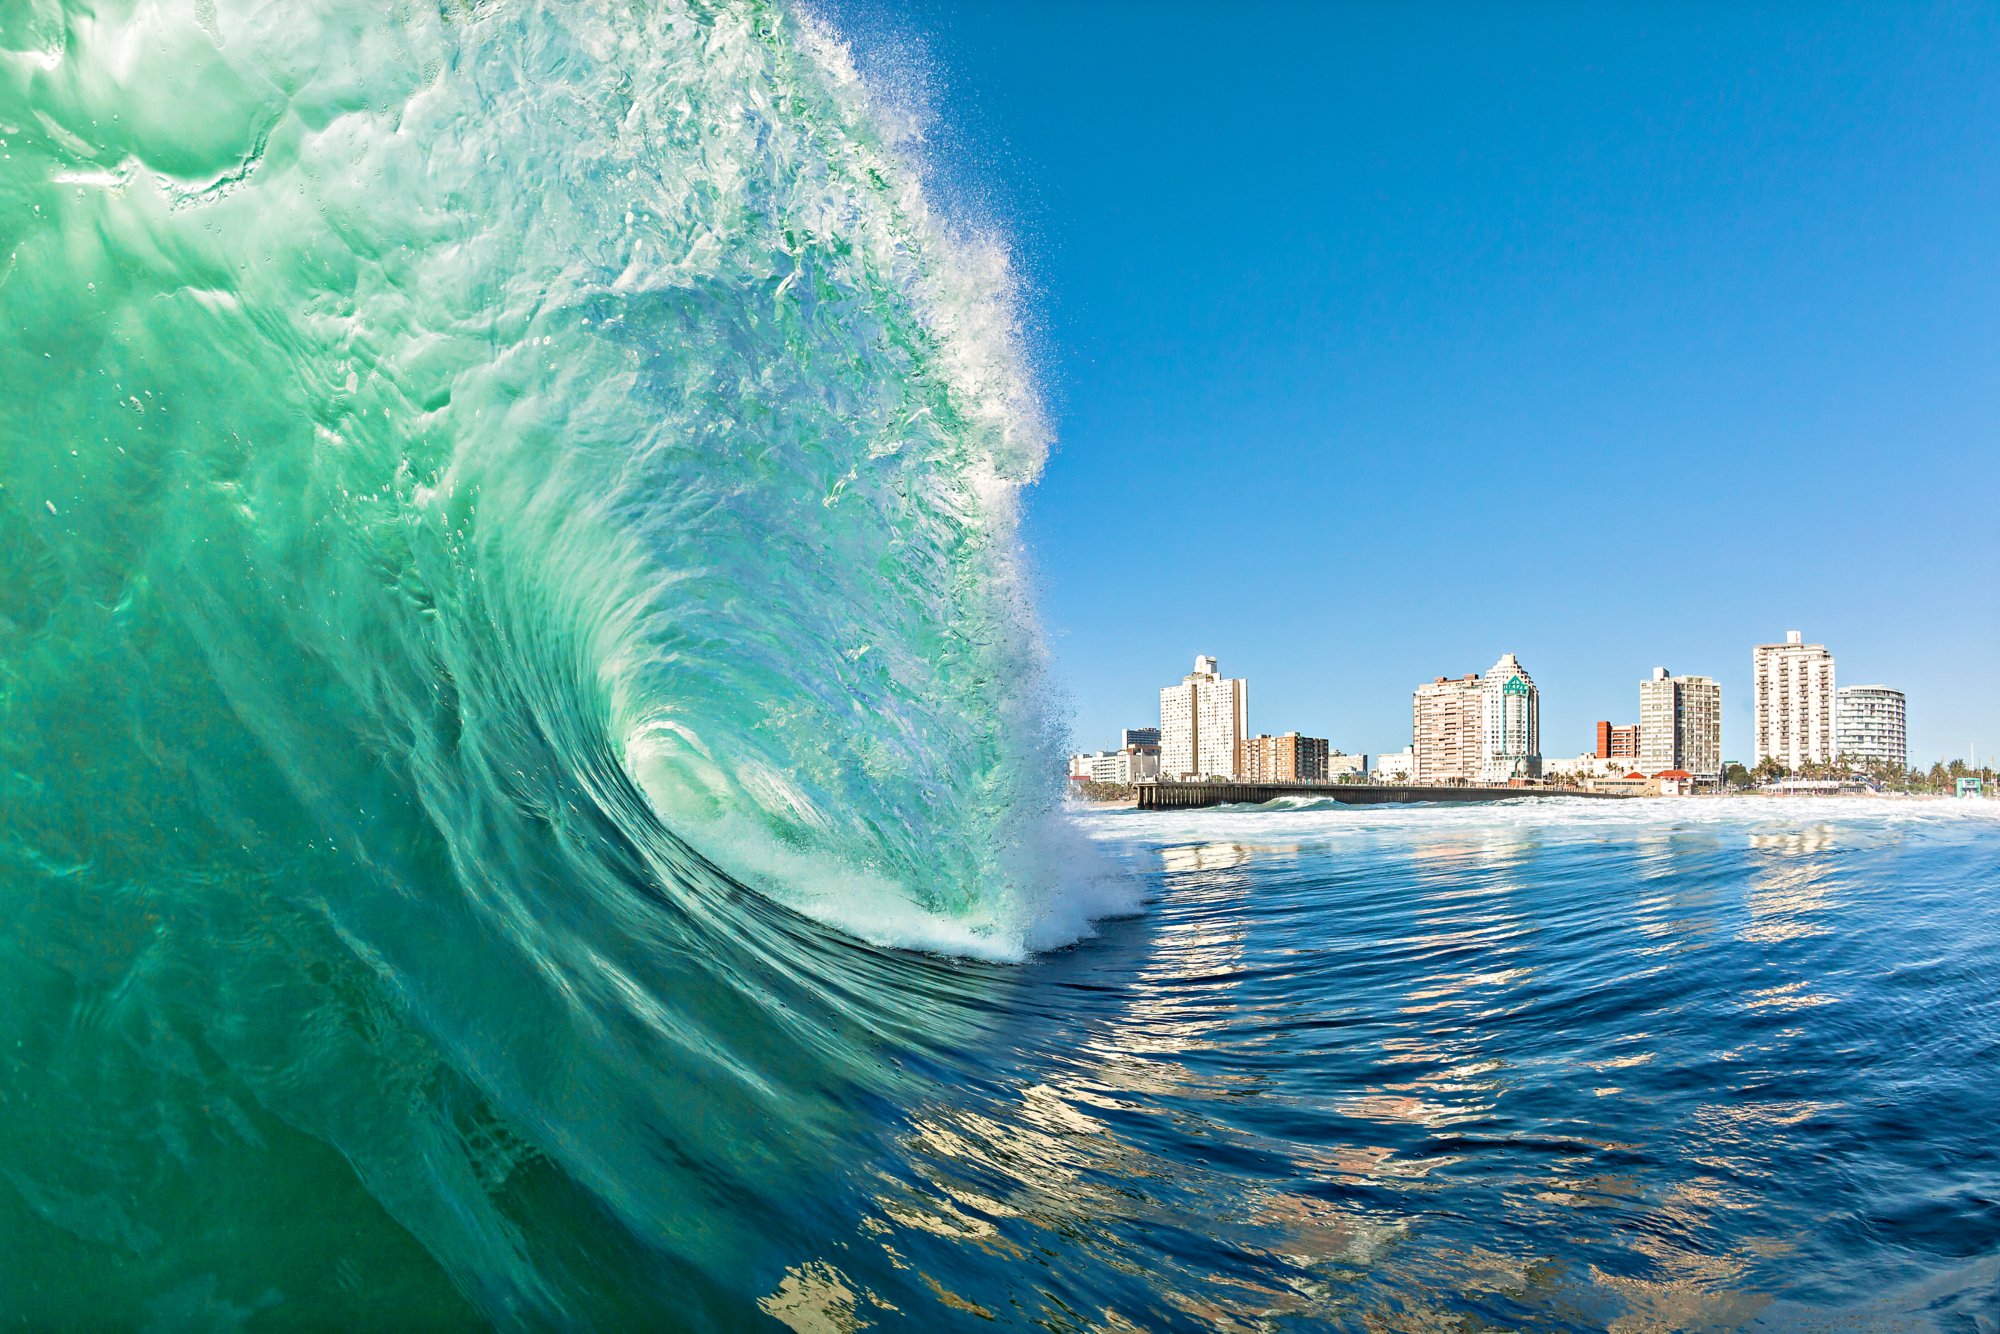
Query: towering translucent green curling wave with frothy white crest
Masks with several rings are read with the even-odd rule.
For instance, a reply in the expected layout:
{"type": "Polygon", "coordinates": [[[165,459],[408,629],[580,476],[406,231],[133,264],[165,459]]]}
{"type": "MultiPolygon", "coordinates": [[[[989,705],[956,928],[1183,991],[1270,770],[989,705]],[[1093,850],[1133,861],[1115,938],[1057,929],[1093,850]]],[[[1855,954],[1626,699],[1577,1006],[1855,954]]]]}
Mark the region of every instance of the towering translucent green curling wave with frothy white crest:
{"type": "Polygon", "coordinates": [[[1080,930],[1004,254],[770,4],[18,0],[0,72],[0,1298],[728,1322],[980,1022],[858,942],[1080,930]]]}

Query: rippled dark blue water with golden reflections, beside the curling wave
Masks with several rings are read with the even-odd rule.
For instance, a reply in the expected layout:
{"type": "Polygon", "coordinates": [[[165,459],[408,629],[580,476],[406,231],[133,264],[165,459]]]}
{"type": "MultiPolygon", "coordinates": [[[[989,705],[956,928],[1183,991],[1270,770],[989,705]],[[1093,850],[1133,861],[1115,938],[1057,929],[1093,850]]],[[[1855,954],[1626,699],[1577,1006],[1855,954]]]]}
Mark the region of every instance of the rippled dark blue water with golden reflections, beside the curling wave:
{"type": "Polygon", "coordinates": [[[1992,1328],[1994,814],[1094,814],[1150,912],[1008,984],[852,1244],[1062,1328],[1992,1328]]]}

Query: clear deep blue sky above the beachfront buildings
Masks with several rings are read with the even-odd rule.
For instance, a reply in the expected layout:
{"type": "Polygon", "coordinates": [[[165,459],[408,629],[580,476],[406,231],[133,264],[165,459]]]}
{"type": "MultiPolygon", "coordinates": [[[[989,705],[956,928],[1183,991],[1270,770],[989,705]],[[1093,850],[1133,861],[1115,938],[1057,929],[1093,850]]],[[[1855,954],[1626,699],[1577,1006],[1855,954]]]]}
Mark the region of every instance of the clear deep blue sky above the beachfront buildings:
{"type": "Polygon", "coordinates": [[[1024,270],[1074,740],[1194,654],[1410,740],[1520,654],[1542,750],[1790,628],[2000,758],[2000,8],[832,6],[1024,270]]]}

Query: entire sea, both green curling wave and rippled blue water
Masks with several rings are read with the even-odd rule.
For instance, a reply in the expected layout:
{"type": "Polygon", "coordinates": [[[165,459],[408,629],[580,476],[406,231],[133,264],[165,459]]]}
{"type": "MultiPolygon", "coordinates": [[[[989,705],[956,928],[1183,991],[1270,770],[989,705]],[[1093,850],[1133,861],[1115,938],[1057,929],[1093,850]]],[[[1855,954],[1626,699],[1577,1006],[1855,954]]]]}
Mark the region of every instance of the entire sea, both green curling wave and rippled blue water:
{"type": "Polygon", "coordinates": [[[1992,1318],[1986,804],[1078,814],[754,2],[0,6],[0,1318],[1992,1318]]]}

